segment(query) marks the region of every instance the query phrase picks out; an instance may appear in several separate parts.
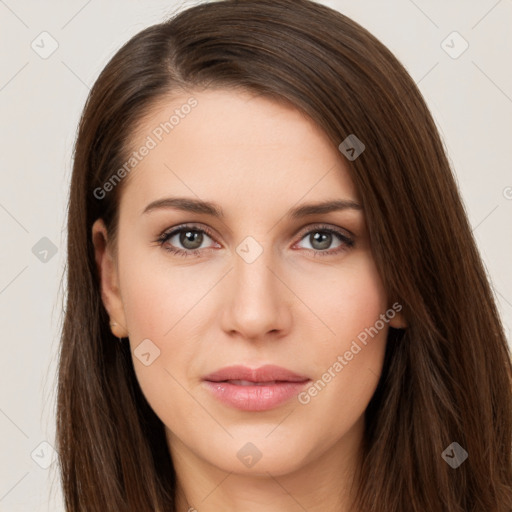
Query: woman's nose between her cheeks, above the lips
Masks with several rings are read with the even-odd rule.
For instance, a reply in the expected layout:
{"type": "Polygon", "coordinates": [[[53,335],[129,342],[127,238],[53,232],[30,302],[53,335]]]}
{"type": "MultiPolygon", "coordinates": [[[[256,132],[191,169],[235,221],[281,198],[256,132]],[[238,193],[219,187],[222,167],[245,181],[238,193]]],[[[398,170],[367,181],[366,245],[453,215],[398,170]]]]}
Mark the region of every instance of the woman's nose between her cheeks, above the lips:
{"type": "Polygon", "coordinates": [[[293,293],[279,275],[270,250],[252,262],[234,255],[224,284],[222,328],[231,337],[276,339],[291,328],[293,293]]]}

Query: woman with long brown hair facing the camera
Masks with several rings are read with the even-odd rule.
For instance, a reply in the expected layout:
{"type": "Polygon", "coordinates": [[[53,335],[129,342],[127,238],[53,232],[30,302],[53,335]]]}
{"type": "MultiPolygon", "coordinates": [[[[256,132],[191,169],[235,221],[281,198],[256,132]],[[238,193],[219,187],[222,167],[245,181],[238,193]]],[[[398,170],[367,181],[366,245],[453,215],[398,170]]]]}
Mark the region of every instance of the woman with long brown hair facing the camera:
{"type": "Polygon", "coordinates": [[[489,283],[421,94],[353,21],[222,1],[137,34],[68,230],[68,511],[512,509],[489,283]]]}

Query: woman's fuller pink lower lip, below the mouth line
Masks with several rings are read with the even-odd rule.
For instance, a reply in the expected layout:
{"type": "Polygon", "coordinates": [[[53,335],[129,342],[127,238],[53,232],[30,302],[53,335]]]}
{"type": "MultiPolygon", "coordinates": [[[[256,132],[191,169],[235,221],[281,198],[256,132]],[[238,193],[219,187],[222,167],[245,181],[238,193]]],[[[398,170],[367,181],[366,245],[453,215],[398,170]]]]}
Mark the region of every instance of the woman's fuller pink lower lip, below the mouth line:
{"type": "Polygon", "coordinates": [[[225,405],[241,411],[267,411],[297,396],[308,382],[309,380],[276,382],[268,386],[238,386],[229,382],[205,380],[204,384],[225,405]]]}

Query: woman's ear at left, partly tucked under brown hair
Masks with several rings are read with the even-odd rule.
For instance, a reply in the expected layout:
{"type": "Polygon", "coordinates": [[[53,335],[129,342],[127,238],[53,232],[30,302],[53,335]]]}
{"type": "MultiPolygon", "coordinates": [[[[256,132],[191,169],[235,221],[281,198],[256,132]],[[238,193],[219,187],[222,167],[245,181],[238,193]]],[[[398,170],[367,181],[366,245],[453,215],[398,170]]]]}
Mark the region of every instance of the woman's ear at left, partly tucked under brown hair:
{"type": "Polygon", "coordinates": [[[117,263],[108,244],[108,232],[103,219],[97,219],[92,226],[94,256],[101,284],[101,300],[110,316],[110,329],[114,336],[128,336],[117,263]]]}

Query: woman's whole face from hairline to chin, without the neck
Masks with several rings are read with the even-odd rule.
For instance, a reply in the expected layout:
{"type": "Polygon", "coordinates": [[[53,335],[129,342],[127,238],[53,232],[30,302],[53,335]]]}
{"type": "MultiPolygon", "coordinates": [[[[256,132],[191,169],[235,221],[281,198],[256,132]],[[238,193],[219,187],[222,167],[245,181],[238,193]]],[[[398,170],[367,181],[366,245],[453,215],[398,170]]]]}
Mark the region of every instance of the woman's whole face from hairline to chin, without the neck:
{"type": "Polygon", "coordinates": [[[160,103],[132,142],[118,259],[102,221],[96,258],[175,464],[279,475],[355,453],[399,315],[344,157],[297,110],[228,90],[160,103]]]}

